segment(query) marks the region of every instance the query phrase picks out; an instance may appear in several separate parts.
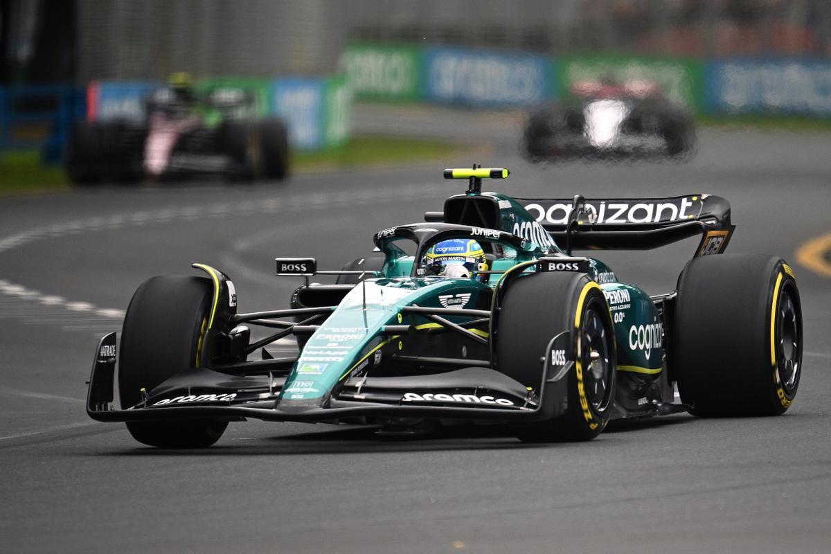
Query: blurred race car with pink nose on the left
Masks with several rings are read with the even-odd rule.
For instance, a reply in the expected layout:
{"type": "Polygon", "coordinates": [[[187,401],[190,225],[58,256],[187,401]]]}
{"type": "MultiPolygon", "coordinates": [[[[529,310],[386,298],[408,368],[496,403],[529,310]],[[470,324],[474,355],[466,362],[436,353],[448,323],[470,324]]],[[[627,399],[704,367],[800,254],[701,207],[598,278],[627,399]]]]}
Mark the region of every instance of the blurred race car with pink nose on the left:
{"type": "Polygon", "coordinates": [[[217,174],[284,179],[288,133],[278,118],[259,118],[253,93],[218,88],[199,96],[178,74],[145,99],[146,119],[79,121],[66,150],[75,184],[135,182],[217,174]]]}

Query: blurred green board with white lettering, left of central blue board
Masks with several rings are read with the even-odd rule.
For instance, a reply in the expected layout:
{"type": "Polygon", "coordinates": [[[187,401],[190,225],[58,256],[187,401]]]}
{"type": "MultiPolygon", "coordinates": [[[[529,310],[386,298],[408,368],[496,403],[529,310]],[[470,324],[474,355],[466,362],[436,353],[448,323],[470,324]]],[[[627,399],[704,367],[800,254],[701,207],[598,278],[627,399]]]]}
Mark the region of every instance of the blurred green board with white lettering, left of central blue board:
{"type": "Polygon", "coordinates": [[[340,68],[358,98],[416,101],[421,64],[419,47],[355,42],[343,52],[340,68]]]}

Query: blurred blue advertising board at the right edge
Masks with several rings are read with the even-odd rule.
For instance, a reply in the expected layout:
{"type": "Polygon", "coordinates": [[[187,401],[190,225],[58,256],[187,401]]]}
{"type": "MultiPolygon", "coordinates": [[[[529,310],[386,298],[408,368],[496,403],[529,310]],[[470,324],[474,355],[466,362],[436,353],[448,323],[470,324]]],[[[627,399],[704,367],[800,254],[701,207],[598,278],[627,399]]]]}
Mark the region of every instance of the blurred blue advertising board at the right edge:
{"type": "Polygon", "coordinates": [[[712,61],[706,105],[711,113],[831,116],[831,61],[712,61]]]}

